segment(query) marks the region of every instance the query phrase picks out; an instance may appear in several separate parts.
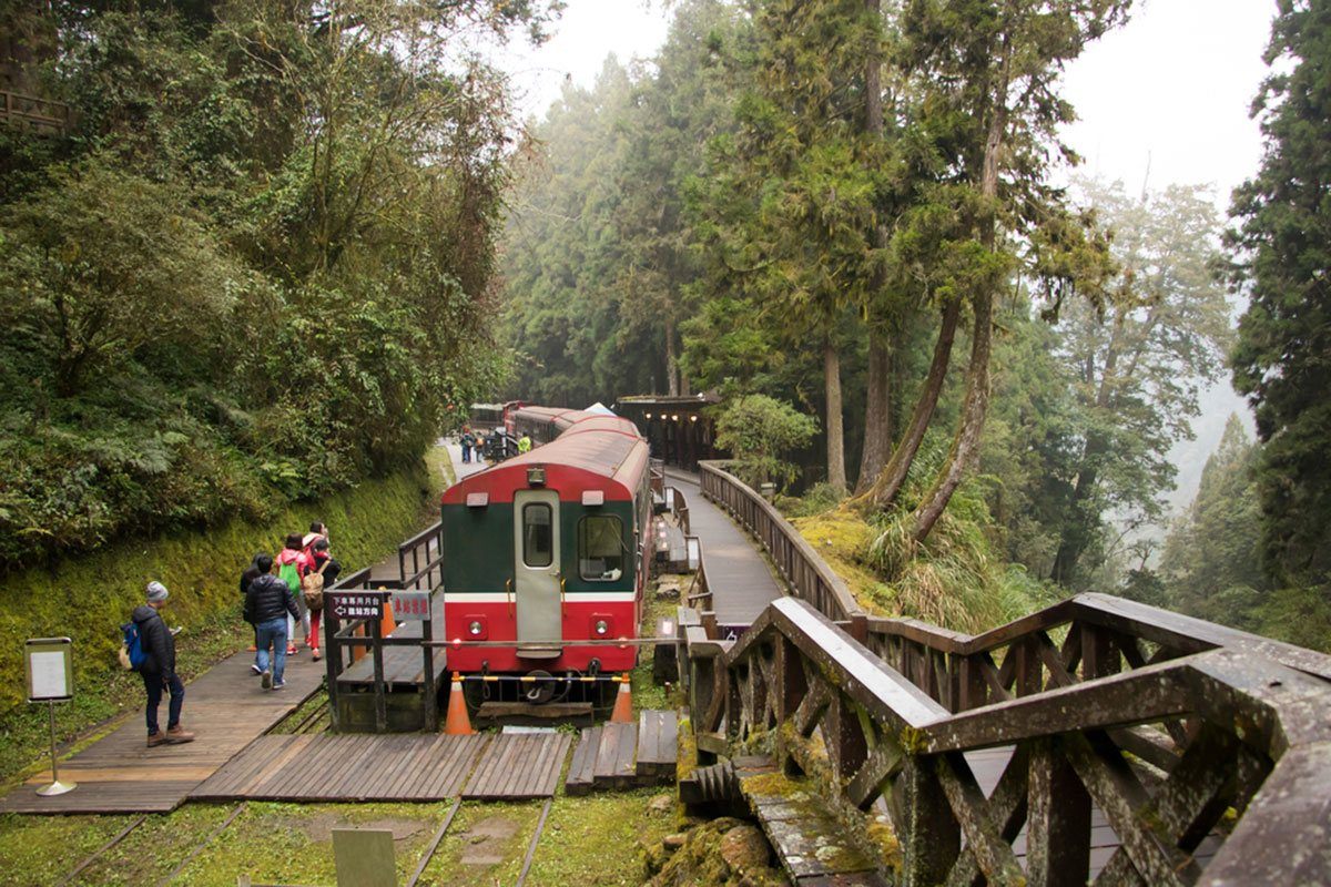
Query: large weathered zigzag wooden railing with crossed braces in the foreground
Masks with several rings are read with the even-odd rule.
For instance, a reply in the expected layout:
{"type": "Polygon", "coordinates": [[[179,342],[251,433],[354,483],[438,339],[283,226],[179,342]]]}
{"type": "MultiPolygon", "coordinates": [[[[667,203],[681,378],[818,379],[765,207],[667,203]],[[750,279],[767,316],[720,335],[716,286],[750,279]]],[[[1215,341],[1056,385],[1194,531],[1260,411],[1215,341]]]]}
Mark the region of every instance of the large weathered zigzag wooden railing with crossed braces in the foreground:
{"type": "Polygon", "coordinates": [[[1326,656],[1097,594],[977,637],[874,620],[874,649],[796,598],[683,632],[699,749],[821,771],[848,818],[882,798],[901,883],[1083,884],[1093,806],[1097,884],[1331,883],[1326,656]],[[965,753],[996,747],[986,795],[965,753]]]}

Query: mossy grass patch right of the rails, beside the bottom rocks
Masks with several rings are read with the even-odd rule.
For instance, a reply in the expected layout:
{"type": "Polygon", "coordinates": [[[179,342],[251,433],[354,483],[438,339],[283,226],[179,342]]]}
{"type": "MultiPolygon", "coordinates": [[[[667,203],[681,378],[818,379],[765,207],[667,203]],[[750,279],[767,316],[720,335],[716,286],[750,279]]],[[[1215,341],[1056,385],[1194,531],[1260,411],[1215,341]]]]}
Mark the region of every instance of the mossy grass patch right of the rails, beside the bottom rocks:
{"type": "MultiPolygon", "coordinates": [[[[673,807],[647,803],[662,789],[555,798],[536,844],[527,883],[532,887],[610,887],[646,880],[642,848],[673,831],[673,807]]],[[[511,883],[511,882],[499,882],[511,883]]]]}

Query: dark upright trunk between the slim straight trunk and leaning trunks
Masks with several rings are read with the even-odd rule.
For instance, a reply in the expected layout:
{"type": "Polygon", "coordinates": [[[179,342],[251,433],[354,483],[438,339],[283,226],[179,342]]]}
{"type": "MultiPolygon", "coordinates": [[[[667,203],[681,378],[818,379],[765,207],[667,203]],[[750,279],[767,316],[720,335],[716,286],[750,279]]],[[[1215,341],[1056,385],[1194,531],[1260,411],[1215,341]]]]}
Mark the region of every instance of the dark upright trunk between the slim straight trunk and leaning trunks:
{"type": "MultiPolygon", "coordinates": [[[[882,68],[878,52],[877,21],[881,16],[881,0],[865,0],[865,8],[874,17],[874,28],[869,32],[869,47],[864,63],[864,132],[870,138],[882,138],[882,68]]],[[[870,237],[873,247],[882,250],[888,245],[888,233],[882,225],[874,225],[870,237]]],[[[869,281],[869,310],[881,297],[884,285],[882,266],[876,265],[869,281]]],[[[892,448],[892,427],[888,422],[890,407],[890,375],[888,372],[888,343],[877,324],[869,323],[869,380],[864,406],[864,451],[860,453],[860,475],[855,492],[862,495],[878,477],[888,461],[892,448]]]]}

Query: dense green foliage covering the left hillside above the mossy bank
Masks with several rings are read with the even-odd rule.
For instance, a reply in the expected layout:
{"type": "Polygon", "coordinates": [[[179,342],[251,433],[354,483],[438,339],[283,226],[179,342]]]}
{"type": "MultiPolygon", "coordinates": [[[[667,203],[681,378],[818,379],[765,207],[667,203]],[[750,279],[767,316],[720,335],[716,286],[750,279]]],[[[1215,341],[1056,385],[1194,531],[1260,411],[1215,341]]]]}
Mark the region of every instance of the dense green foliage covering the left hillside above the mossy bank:
{"type": "Polygon", "coordinates": [[[75,132],[0,145],[0,572],[390,475],[502,382],[508,108],[457,36],[558,7],[33,13],[75,132]]]}

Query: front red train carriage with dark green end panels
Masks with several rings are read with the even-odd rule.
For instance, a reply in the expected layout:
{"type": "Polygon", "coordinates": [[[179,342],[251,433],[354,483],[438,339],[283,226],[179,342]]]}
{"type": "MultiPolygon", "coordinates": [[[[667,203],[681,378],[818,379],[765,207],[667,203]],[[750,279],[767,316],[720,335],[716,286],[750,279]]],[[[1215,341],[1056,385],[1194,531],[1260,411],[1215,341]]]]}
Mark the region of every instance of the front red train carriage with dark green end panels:
{"type": "MultiPolygon", "coordinates": [[[[638,637],[651,472],[647,442],[627,419],[546,407],[516,408],[510,418],[515,434],[531,436],[532,451],[443,495],[445,630],[462,641],[449,648],[449,669],[534,676],[540,680],[518,682],[516,698],[544,702],[586,684],[547,677],[636,664],[636,645],[579,641],[638,637]]],[[[502,680],[471,681],[473,703],[478,685],[491,698],[504,688],[502,680]]]]}

